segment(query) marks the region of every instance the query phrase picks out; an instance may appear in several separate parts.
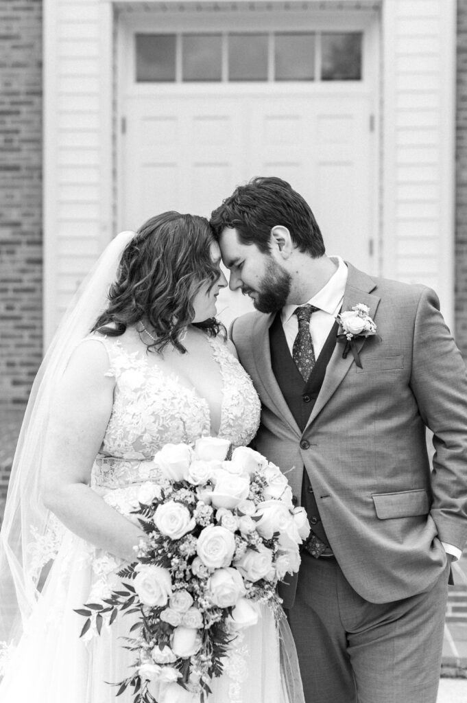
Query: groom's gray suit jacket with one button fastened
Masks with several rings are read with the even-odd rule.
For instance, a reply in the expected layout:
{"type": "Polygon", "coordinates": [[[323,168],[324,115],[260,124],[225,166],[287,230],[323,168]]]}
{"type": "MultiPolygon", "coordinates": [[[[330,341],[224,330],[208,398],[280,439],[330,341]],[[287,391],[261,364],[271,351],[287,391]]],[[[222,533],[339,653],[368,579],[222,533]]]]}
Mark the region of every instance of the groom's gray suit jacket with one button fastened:
{"type": "MultiPolygon", "coordinates": [[[[346,579],[366,600],[390,602],[438,579],[441,541],[462,549],[467,539],[466,366],[433,290],[348,269],[342,309],[367,305],[376,335],[357,342],[362,368],[336,343],[303,433],[271,370],[274,315],[237,318],[232,340],[263,404],[256,449],[298,501],[305,467],[346,579]]],[[[281,589],[284,607],[295,588],[296,577],[281,589]]]]}

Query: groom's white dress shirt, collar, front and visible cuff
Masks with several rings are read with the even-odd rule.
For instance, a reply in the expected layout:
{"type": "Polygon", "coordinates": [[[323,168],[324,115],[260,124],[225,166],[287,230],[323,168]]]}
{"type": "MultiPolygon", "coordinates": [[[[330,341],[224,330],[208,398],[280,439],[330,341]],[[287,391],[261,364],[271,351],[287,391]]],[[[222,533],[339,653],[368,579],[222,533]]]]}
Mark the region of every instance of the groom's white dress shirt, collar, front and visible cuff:
{"type": "MultiPolygon", "coordinates": [[[[326,342],[331,332],[332,325],[334,325],[336,321],[336,315],[341,309],[347,284],[348,269],[343,259],[341,259],[341,257],[329,258],[336,264],[336,271],[332,274],[331,278],[329,278],[327,284],[324,285],[316,295],[313,295],[313,298],[303,303],[303,305],[310,304],[319,308],[319,310],[315,311],[310,317],[310,335],[313,342],[313,349],[315,350],[315,359],[320,356],[320,352],[324,347],[324,342],[326,342]]],[[[298,333],[298,318],[294,315],[294,311],[297,307],[301,306],[285,305],[281,313],[282,327],[284,328],[290,354],[292,354],[295,337],[298,333]]],[[[461,558],[461,550],[454,547],[454,545],[442,542],[442,546],[445,548],[446,553],[453,557],[454,561],[461,558]]]]}

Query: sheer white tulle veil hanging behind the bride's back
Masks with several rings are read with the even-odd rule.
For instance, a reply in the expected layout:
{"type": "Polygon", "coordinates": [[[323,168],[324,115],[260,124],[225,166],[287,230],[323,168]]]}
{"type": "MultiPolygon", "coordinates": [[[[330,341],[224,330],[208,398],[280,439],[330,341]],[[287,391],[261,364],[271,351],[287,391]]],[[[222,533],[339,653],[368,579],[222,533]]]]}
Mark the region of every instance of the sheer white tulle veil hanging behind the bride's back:
{"type": "Polygon", "coordinates": [[[46,572],[60,547],[60,529],[40,497],[40,467],[55,382],[74,347],[89,333],[107,304],[121,254],[135,235],[117,235],[81,283],[41,363],[29,396],[15,451],[0,532],[0,676],[18,643],[34,605],[41,597],[46,572]],[[46,539],[53,534],[53,541],[46,539]],[[38,550],[42,546],[41,559],[38,550]]]}

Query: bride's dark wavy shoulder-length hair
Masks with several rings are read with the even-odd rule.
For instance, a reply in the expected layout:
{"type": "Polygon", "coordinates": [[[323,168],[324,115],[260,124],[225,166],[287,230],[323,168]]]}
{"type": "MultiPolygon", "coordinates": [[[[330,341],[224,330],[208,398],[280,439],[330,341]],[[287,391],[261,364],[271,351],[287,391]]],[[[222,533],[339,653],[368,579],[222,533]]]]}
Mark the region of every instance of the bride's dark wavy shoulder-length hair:
{"type": "MultiPolygon", "coordinates": [[[[211,290],[219,278],[211,259],[214,241],[204,217],[170,211],[148,219],[126,245],[110,302],[91,332],[117,337],[129,325],[147,321],[156,337],[148,351],[160,353],[172,344],[185,353],[180,335],[195,318],[193,299],[204,283],[211,290]]],[[[216,318],[194,324],[210,337],[225,334],[216,318]]]]}

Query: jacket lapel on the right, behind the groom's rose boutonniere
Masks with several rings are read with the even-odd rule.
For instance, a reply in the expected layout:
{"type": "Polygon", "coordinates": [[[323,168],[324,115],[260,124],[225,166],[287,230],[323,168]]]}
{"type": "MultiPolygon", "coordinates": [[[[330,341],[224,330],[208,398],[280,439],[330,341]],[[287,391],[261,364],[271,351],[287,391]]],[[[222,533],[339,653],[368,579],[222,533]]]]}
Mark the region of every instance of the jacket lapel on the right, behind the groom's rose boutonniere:
{"type": "MultiPolygon", "coordinates": [[[[363,303],[369,307],[370,317],[375,319],[380,299],[377,295],[371,295],[371,291],[376,288],[376,283],[374,283],[374,280],[367,276],[366,273],[358,271],[358,269],[355,269],[351,264],[347,264],[347,266],[348,278],[342,309],[351,310],[357,303],[363,303]]],[[[366,340],[364,339],[358,340],[357,350],[359,354],[365,342],[366,340]]],[[[338,389],[348,373],[350,366],[354,363],[352,352],[349,352],[346,359],[343,359],[343,349],[343,344],[336,343],[336,348],[329,360],[326,374],[324,375],[320,394],[317,396],[315,406],[310,414],[305,430],[313,423],[318,413],[322,411],[322,408],[324,408],[331,396],[336,392],[336,389],[338,389]]]]}

